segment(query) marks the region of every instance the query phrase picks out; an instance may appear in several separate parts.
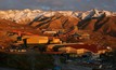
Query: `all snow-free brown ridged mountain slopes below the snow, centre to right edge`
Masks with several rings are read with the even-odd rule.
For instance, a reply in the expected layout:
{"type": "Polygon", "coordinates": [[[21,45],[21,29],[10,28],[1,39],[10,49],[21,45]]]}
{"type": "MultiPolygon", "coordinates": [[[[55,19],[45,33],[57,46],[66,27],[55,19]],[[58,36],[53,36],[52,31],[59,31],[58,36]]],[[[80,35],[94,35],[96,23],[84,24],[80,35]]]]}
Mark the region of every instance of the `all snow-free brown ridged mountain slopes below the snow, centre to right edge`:
{"type": "Polygon", "coordinates": [[[38,17],[29,24],[39,29],[72,29],[77,26],[80,30],[90,30],[93,32],[101,32],[102,34],[109,34],[116,37],[116,16],[93,17],[87,19],[79,19],[78,17],[64,16],[55,14],[51,17],[38,17]]]}

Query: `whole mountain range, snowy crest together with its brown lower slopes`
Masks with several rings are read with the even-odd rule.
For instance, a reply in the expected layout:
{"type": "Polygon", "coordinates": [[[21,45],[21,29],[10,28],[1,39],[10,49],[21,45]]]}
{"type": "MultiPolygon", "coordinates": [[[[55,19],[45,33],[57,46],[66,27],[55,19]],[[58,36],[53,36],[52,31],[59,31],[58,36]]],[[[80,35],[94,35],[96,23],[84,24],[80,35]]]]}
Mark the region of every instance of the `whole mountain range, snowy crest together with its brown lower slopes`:
{"type": "Polygon", "coordinates": [[[0,18],[33,26],[35,29],[70,29],[77,26],[81,30],[99,31],[116,37],[116,13],[109,11],[9,10],[0,11],[0,18]]]}

